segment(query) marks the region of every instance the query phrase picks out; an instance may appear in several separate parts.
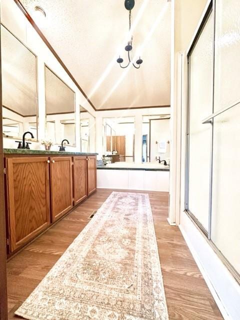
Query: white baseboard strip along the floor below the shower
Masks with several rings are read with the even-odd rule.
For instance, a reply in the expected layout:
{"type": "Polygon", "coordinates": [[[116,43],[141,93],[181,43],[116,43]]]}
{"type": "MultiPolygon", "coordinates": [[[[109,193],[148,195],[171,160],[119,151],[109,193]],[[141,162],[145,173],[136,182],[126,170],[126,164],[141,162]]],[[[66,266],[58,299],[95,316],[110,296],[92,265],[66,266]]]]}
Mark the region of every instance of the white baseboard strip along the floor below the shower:
{"type": "Polygon", "coordinates": [[[179,227],[179,229],[180,229],[180,231],[181,231],[181,234],[182,234],[184,240],[186,241],[186,244],[187,244],[187,246],[188,246],[188,248],[189,248],[189,250],[190,250],[190,252],[191,252],[191,254],[192,254],[192,256],[193,256],[193,258],[194,258],[194,260],[195,260],[195,262],[196,262],[196,265],[198,266],[198,268],[199,268],[199,270],[200,270],[200,272],[201,272],[201,274],[202,274],[202,276],[203,276],[203,279],[204,279],[205,282],[206,282],[206,285],[207,285],[208,289],[210,290],[210,292],[211,292],[211,294],[212,294],[212,296],[213,296],[213,299],[214,299],[215,302],[216,302],[216,305],[218,306],[218,308],[219,308],[219,310],[220,310],[220,312],[221,312],[221,315],[223,316],[223,319],[224,319],[224,320],[233,320],[233,319],[229,316],[229,314],[227,313],[227,311],[226,311],[226,309],[225,309],[222,301],[220,300],[217,292],[215,291],[215,288],[214,288],[214,286],[212,285],[211,280],[210,280],[210,278],[208,277],[208,274],[206,273],[203,265],[201,264],[201,261],[200,261],[200,259],[198,258],[197,252],[196,252],[196,250],[194,249],[194,247],[192,246],[191,241],[189,240],[189,238],[188,238],[188,236],[187,236],[184,228],[183,228],[180,224],[178,225],[178,227],[179,227]]]}

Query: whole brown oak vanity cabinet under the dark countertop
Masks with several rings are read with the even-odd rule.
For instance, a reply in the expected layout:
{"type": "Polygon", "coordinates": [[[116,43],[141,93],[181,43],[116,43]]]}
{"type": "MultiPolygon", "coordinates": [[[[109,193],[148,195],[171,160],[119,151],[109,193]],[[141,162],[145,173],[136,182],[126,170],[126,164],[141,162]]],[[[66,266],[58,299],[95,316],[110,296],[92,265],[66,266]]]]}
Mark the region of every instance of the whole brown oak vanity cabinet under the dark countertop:
{"type": "Polygon", "coordinates": [[[96,190],[96,157],[7,154],[7,253],[32,240],[96,190]]]}

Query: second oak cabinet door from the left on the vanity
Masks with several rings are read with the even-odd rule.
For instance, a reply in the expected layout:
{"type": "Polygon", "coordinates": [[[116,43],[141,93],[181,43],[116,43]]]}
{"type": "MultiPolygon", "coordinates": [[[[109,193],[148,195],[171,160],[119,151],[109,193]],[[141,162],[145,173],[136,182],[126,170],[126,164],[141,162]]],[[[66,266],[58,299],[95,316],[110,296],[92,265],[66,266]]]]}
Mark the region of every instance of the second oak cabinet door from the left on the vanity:
{"type": "Polygon", "coordinates": [[[56,221],[72,208],[72,158],[50,157],[51,215],[56,221]]]}

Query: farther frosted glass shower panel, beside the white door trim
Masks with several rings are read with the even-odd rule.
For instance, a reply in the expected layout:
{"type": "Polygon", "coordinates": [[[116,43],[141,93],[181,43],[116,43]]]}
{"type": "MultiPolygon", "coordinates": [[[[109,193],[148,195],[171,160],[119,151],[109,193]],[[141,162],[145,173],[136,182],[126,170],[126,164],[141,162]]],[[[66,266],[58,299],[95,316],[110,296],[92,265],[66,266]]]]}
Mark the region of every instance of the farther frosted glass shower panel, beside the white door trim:
{"type": "Polygon", "coordinates": [[[208,232],[212,113],[212,13],[189,55],[188,196],[186,208],[208,232]]]}

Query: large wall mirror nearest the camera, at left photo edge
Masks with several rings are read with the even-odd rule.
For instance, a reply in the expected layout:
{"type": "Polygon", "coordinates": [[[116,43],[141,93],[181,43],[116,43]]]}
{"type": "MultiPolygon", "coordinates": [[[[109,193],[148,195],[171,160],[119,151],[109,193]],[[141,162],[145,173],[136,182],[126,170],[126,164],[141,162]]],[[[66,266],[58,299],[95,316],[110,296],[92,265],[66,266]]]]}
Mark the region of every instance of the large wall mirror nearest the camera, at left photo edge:
{"type": "Polygon", "coordinates": [[[3,136],[37,140],[36,56],[1,24],[3,136]]]}

